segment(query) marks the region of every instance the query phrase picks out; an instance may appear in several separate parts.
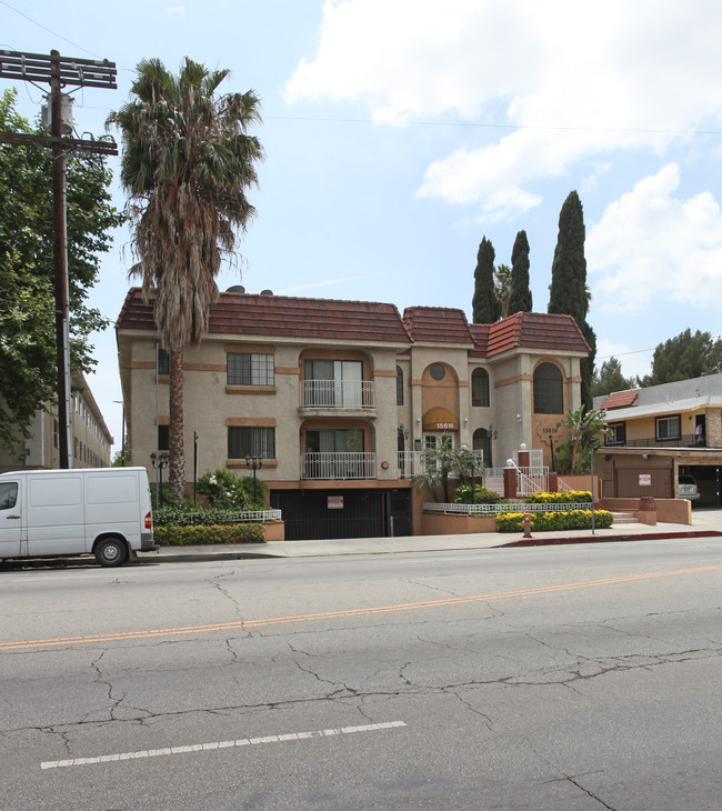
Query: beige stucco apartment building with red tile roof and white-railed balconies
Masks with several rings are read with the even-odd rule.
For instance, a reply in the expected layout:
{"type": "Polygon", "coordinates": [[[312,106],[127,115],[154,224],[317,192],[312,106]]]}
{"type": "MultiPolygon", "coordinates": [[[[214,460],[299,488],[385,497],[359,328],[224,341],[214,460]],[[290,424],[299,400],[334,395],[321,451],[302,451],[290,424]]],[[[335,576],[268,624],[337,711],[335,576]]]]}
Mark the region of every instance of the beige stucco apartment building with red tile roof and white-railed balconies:
{"type": "MultiPolygon", "coordinates": [[[[118,319],[132,463],[168,441],[167,353],[152,304],[129,291],[118,319]]],[[[461,310],[220,294],[184,353],[185,470],[248,473],[260,458],[288,539],[409,534],[420,451],[449,435],[503,467],[521,443],[550,461],[580,404],[589,347],[569,316],[470,324],[461,310]]]]}

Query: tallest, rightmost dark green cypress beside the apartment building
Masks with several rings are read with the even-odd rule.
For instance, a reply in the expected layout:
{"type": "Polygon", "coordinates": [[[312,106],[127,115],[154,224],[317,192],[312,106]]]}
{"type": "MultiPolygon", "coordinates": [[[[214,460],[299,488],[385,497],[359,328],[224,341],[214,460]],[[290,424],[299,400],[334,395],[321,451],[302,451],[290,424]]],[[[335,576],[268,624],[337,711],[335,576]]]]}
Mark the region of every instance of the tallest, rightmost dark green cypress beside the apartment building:
{"type": "Polygon", "coordinates": [[[582,402],[591,409],[596,336],[586,322],[591,294],[586,287],[585,238],[582,201],[575,191],[571,191],[559,213],[559,237],[552,261],[548,312],[572,316],[590,344],[591,351],[589,357],[581,361],[580,372],[582,402]]]}

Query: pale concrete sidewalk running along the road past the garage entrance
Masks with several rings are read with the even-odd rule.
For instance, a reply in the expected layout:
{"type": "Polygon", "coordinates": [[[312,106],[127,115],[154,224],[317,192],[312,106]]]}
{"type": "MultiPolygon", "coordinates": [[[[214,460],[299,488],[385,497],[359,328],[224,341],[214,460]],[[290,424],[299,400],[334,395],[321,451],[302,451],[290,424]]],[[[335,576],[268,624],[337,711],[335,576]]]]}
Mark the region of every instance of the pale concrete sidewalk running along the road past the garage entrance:
{"type": "Polygon", "coordinates": [[[157,552],[141,552],[142,561],[178,562],[192,560],[239,560],[250,558],[318,558],[339,554],[393,554],[397,552],[435,552],[497,547],[549,545],[560,543],[603,543],[643,541],[655,538],[722,537],[722,510],[698,510],[692,525],[658,523],[619,524],[609,529],[538,532],[524,539],[521,532],[484,532],[460,535],[404,535],[402,538],[343,538],[323,541],[270,541],[193,547],[161,547],[157,552]]]}

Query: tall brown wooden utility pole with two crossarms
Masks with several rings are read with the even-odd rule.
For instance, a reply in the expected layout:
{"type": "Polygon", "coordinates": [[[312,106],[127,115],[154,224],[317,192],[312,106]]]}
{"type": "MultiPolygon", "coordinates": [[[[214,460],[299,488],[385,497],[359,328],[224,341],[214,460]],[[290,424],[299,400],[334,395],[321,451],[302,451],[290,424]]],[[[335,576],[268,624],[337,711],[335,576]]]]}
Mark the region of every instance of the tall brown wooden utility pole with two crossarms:
{"type": "Polygon", "coordinates": [[[50,136],[0,132],[0,143],[34,144],[52,150],[53,260],[56,288],[56,357],[58,366],[58,424],[60,467],[72,468],[72,409],[70,407],[70,316],[68,306],[68,244],[66,229],[66,151],[118,154],[112,140],[96,141],[62,136],[62,88],[117,89],[116,64],[90,59],[66,59],[0,50],[0,77],[50,84],[50,136]]]}

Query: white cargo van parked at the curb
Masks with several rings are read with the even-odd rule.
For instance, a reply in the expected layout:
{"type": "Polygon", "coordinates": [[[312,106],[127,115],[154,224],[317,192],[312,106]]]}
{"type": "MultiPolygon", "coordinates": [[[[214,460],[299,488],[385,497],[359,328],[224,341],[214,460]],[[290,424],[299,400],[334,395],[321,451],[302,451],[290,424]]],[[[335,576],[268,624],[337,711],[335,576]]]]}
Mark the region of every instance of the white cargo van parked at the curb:
{"type": "Polygon", "coordinates": [[[0,560],[94,554],[110,567],[152,549],[146,468],[0,474],[0,560]]]}

